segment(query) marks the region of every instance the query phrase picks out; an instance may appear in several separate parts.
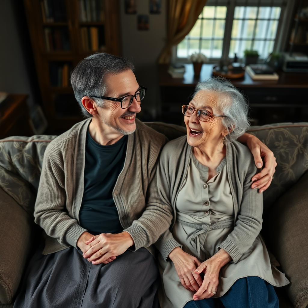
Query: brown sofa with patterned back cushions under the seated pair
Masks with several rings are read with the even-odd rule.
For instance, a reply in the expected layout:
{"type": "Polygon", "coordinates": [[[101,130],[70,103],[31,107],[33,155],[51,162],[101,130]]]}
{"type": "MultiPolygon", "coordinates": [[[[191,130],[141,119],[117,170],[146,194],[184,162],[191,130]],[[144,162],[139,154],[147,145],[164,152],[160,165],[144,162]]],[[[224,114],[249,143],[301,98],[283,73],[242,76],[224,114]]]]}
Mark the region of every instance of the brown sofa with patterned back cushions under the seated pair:
{"type": "MultiPolygon", "coordinates": [[[[186,128],[146,123],[169,140],[186,128]]],[[[280,307],[308,307],[308,123],[255,126],[273,152],[276,173],[263,193],[261,234],[290,284],[276,288],[280,307]]],[[[27,262],[43,238],[34,224],[34,203],[44,151],[56,136],[13,136],[0,140],[0,308],[13,306],[27,262]]]]}

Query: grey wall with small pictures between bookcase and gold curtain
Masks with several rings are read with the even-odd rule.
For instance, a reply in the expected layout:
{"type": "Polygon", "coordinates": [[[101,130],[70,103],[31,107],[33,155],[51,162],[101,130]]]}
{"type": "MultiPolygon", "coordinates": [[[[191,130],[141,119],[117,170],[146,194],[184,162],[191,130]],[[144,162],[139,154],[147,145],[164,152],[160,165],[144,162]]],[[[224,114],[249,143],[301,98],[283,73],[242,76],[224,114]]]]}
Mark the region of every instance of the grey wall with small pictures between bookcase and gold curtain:
{"type": "Polygon", "coordinates": [[[159,119],[160,92],[157,59],[166,43],[167,0],[162,0],[161,14],[149,14],[149,0],[137,0],[137,14],[125,14],[124,0],[120,0],[122,56],[136,67],[137,82],[148,88],[142,101],[142,120],[159,119]],[[148,31],[137,30],[137,15],[149,15],[148,31]]]}

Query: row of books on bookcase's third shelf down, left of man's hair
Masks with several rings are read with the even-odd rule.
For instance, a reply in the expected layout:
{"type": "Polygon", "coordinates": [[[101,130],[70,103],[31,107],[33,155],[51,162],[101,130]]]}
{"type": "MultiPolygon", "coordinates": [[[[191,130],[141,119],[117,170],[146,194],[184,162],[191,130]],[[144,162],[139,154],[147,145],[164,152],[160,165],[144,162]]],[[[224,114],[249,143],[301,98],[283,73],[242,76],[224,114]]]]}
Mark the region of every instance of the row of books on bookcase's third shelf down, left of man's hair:
{"type": "Polygon", "coordinates": [[[52,62],[49,67],[50,84],[52,87],[69,87],[71,64],[52,62]]]}

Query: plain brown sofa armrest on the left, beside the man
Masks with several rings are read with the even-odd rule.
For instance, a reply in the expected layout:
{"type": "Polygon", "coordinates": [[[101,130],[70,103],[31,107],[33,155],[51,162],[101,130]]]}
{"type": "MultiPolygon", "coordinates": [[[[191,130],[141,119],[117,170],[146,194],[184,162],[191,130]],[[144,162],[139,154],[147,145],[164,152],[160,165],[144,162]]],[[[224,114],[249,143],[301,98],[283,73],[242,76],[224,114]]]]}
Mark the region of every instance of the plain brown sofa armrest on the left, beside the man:
{"type": "Polygon", "coordinates": [[[18,289],[29,257],[34,219],[2,188],[0,217],[0,304],[7,304],[18,289]]]}

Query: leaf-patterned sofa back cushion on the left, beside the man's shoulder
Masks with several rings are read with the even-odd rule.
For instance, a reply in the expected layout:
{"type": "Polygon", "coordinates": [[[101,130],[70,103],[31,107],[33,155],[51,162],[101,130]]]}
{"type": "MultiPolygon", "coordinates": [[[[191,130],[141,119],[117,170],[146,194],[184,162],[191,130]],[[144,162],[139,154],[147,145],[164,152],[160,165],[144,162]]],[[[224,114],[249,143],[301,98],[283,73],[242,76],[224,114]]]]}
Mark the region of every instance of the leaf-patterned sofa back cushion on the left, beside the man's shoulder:
{"type": "Polygon", "coordinates": [[[0,140],[0,187],[29,214],[34,203],[43,156],[56,136],[12,136],[0,140]]]}

